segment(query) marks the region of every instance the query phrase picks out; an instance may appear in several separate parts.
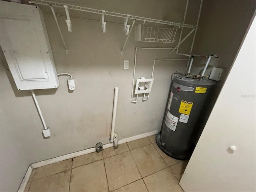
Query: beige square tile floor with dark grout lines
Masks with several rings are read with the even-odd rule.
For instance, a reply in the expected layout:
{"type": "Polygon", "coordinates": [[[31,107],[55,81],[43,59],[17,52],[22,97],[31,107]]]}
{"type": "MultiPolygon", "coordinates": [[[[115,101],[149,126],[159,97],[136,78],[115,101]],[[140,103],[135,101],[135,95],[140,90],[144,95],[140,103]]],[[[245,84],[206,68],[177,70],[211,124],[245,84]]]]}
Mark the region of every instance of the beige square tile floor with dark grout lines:
{"type": "Polygon", "coordinates": [[[178,183],[187,163],[149,136],[36,168],[25,191],[183,191],[178,183]]]}

